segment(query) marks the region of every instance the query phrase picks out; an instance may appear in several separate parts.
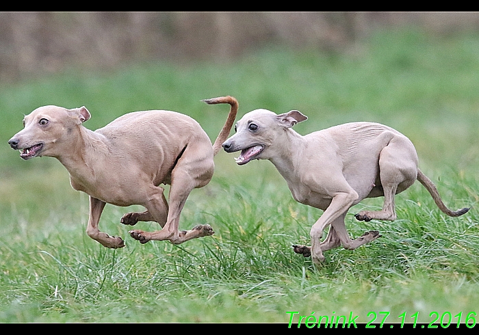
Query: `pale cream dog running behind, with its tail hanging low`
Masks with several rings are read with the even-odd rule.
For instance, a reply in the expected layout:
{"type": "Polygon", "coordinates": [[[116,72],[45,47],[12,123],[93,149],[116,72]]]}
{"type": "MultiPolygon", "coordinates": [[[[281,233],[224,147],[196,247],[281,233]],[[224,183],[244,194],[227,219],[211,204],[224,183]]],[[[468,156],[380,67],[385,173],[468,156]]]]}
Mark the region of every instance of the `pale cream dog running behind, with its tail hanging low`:
{"type": "Polygon", "coordinates": [[[241,150],[237,164],[268,159],[285,178],[294,200],[322,209],[311,228],[311,247],[294,245],[294,251],[312,256],[315,264],[323,253],[339,245],[354,250],[380,237],[372,230],[350,239],[344,217],[364,198],[384,196],[381,211],[362,211],[359,220],[394,220],[394,196],[419,180],[439,209],[452,217],[469,209],[450,211],[435,185],[417,168],[417,153],[411,141],[383,124],[352,122],[302,136],[292,129],[307,120],[299,111],[276,115],[266,109],[250,111],[235,126],[235,135],[223,143],[226,152],[241,150]],[[326,226],[326,239],[320,242],[326,226]]]}

